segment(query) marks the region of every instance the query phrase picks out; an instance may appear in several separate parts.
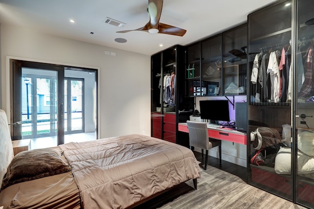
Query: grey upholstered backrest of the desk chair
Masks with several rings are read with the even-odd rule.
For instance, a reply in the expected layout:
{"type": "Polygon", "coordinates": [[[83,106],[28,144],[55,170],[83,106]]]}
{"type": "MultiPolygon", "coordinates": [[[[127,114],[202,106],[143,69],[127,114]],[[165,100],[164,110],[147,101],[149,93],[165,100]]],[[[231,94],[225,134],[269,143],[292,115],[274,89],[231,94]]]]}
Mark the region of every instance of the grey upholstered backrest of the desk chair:
{"type": "Polygon", "coordinates": [[[190,139],[190,146],[201,149],[210,149],[208,128],[205,122],[194,122],[187,120],[187,128],[190,139]]]}

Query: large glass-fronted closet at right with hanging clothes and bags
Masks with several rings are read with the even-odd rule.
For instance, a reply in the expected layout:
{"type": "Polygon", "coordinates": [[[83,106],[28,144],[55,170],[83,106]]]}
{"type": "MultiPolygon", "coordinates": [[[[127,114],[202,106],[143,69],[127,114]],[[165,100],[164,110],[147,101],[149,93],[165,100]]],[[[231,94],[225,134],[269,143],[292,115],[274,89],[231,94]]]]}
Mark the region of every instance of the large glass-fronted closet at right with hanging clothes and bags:
{"type": "Polygon", "coordinates": [[[248,16],[248,128],[272,130],[248,140],[248,182],[308,208],[314,208],[312,8],[313,1],[281,0],[248,16]],[[266,143],[267,134],[273,142],[266,143]]]}

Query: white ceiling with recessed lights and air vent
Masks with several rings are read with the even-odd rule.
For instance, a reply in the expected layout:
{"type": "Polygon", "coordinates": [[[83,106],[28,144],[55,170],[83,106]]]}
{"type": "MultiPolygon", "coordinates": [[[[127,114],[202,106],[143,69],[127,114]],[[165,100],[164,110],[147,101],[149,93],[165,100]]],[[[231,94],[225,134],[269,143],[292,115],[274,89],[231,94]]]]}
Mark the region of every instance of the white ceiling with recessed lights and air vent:
{"type": "Polygon", "coordinates": [[[0,23],[152,55],[246,23],[249,13],[275,1],[164,0],[160,22],[186,29],[183,37],[142,31],[116,33],[140,28],[149,21],[148,0],[0,0],[0,23]],[[104,23],[106,17],[126,25],[104,23]],[[117,43],[116,38],[127,39],[127,43],[117,43]]]}

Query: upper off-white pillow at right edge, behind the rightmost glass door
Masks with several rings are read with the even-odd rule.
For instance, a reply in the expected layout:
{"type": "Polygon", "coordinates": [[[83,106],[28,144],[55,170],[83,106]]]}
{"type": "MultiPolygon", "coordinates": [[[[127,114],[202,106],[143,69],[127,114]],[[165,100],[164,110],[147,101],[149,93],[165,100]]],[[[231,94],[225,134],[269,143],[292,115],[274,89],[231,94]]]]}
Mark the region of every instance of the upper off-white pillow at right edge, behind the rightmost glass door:
{"type": "Polygon", "coordinates": [[[314,157],[314,132],[304,131],[298,134],[298,149],[308,156],[314,157]]]}

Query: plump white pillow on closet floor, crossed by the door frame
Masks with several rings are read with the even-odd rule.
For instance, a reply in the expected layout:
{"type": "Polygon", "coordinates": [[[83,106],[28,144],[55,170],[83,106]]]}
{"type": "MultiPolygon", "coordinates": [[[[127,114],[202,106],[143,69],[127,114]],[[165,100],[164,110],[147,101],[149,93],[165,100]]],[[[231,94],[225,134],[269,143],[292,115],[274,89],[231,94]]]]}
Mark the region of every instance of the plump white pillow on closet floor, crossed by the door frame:
{"type": "MultiPolygon", "coordinates": [[[[314,173],[314,157],[298,151],[298,174],[314,173]]],[[[291,148],[280,147],[275,158],[275,172],[291,174],[291,148]]]]}

